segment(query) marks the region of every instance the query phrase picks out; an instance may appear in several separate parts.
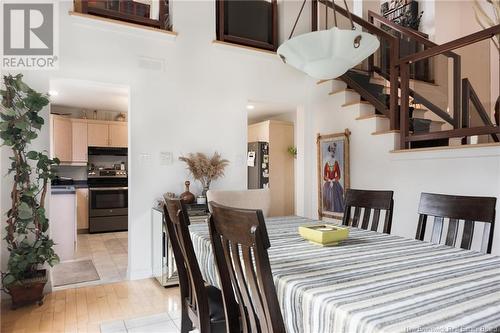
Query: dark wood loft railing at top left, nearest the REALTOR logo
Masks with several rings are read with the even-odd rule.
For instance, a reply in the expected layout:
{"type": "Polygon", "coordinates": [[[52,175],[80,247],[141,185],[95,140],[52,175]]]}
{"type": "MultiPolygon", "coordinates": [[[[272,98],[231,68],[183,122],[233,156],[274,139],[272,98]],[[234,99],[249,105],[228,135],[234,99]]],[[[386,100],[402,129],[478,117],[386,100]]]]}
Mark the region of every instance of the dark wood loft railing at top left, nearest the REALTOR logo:
{"type": "Polygon", "coordinates": [[[161,30],[172,30],[168,0],[74,0],[76,12],[161,30]],[[154,5],[154,6],[153,6],[154,5]]]}

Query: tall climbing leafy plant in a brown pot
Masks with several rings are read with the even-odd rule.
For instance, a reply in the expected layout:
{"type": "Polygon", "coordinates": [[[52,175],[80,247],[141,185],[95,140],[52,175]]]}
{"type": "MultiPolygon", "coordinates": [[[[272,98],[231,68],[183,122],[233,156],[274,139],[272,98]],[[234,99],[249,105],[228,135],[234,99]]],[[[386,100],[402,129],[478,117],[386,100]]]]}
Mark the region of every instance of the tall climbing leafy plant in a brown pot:
{"type": "Polygon", "coordinates": [[[44,120],[42,109],[49,104],[47,95],[26,85],[22,75],[3,77],[0,90],[0,138],[12,152],[8,171],[13,177],[12,205],[7,212],[5,241],[9,251],[7,271],[2,272],[2,286],[12,297],[12,307],[43,301],[47,272],[59,257],[48,236],[49,220],[45,214],[48,183],[55,177],[51,167],[59,160],[45,152],[29,150],[44,120]]]}

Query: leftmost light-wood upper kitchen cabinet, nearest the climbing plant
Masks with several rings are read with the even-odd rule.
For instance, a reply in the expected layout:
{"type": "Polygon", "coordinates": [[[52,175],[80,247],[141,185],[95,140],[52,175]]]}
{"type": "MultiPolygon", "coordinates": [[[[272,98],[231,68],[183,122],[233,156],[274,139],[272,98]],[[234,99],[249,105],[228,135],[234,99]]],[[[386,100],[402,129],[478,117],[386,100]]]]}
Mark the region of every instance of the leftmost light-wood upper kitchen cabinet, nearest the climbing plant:
{"type": "Polygon", "coordinates": [[[57,157],[61,162],[71,162],[72,155],[72,126],[71,119],[51,116],[52,123],[52,157],[57,157]]]}

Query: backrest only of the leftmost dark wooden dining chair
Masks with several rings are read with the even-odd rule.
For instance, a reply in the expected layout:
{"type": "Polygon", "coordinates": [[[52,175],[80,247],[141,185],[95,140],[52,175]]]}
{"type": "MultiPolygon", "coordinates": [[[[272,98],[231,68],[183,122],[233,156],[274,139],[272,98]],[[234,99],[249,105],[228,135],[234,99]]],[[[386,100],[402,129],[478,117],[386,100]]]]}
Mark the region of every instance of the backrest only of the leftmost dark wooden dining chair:
{"type": "Polygon", "coordinates": [[[165,198],[164,215],[177,265],[182,302],[189,306],[191,312],[188,313],[191,320],[197,322],[196,327],[208,327],[208,296],[189,234],[189,217],[181,201],[170,198],[165,198]]]}

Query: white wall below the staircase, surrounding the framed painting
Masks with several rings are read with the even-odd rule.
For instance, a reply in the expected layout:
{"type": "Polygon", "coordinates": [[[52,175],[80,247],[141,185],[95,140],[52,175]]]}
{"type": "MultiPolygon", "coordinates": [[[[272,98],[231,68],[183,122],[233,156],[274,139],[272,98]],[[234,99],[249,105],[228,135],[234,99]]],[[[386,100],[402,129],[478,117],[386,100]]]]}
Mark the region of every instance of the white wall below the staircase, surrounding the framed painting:
{"type": "MultiPolygon", "coordinates": [[[[337,87],[333,90],[338,89],[339,84],[334,84],[337,87]]],[[[305,215],[317,217],[316,134],[343,132],[345,128],[352,132],[351,187],[394,191],[393,234],[415,237],[421,192],[499,197],[500,147],[390,153],[395,134],[371,135],[375,130],[374,120],[355,120],[359,116],[356,107],[342,108],[342,94],[328,96],[330,89],[327,84],[311,87],[313,97],[306,113],[312,121],[297,126],[297,130],[305,133],[307,147],[305,215]]],[[[498,228],[493,252],[500,254],[498,228]]]]}

